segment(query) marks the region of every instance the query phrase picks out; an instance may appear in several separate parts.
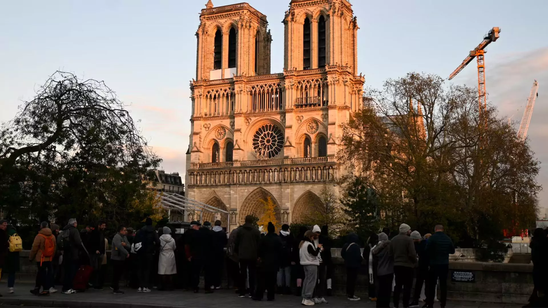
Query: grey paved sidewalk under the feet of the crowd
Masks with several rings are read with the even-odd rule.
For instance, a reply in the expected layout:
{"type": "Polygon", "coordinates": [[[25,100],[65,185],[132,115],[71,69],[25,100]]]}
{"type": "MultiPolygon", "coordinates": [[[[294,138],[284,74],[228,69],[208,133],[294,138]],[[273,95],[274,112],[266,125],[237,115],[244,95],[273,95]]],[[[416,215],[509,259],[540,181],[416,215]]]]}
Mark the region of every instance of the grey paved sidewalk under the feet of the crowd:
{"type": "MultiPolygon", "coordinates": [[[[4,284],[5,286],[5,284],[4,284]]],[[[7,294],[2,289],[3,297],[0,298],[0,306],[35,306],[35,307],[75,307],[75,308],[99,308],[99,307],[303,307],[301,298],[295,295],[278,295],[275,301],[253,301],[249,298],[238,298],[233,290],[215,290],[214,294],[175,291],[157,291],[150,293],[138,293],[133,289],[122,289],[125,294],[115,295],[111,290],[88,290],[78,294],[55,293],[50,296],[32,295],[29,290],[32,284],[16,284],[15,293],[7,294]]],[[[343,296],[328,296],[329,304],[321,307],[375,307],[375,303],[367,298],[361,301],[349,301],[343,296]]],[[[521,307],[518,304],[481,303],[474,301],[449,301],[447,307],[521,307]]],[[[439,307],[436,303],[435,307],[439,307]]]]}

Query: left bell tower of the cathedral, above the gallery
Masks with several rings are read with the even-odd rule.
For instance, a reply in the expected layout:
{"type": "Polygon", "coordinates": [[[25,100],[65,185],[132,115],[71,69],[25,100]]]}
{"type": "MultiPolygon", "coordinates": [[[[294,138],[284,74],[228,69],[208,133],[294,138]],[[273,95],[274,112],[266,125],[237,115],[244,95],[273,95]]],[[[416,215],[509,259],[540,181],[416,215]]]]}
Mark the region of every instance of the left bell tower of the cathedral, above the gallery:
{"type": "Polygon", "coordinates": [[[270,31],[266,16],[248,3],[202,9],[196,56],[196,80],[270,73],[270,31]]]}

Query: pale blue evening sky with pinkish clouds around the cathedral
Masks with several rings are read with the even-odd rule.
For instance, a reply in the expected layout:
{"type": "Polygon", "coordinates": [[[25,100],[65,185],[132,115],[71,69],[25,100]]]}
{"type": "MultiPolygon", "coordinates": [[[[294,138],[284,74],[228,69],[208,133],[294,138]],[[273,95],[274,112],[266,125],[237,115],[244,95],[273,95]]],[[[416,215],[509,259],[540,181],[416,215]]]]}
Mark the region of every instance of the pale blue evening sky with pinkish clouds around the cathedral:
{"type": "MultiPolygon", "coordinates": [[[[206,2],[1,1],[0,122],[12,119],[56,70],[103,80],[140,120],[142,134],[163,158],[161,167],[184,175],[195,33],[206,2]]],[[[533,80],[539,82],[528,142],[541,162],[538,181],[546,187],[540,206],[548,207],[548,1],[350,2],[359,26],[358,72],[368,87],[413,71],[447,77],[490,28],[501,28],[485,58],[489,101],[518,125],[533,80]]],[[[213,0],[215,6],[233,3],[213,0]]],[[[289,0],[248,3],[267,15],[271,72],[282,72],[281,21],[289,0]]],[[[452,82],[477,87],[475,61],[452,82]]]]}

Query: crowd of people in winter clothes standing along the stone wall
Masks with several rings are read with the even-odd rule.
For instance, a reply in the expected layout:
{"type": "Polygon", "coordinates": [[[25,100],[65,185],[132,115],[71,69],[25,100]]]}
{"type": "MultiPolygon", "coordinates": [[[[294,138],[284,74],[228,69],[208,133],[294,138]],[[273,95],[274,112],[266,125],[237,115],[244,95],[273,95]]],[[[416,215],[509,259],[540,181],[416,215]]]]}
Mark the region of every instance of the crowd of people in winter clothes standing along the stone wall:
{"type": "MultiPolygon", "coordinates": [[[[104,231],[105,221],[77,229],[76,219],[70,219],[62,229],[44,222],[32,244],[30,260],[38,268],[35,288],[31,293],[49,295],[55,289],[56,277],[62,272],[62,293],[73,294],[87,288],[102,290],[107,264],[109,241],[104,231]],[[76,287],[75,277],[82,265],[91,274],[85,287],[76,287]]],[[[169,227],[155,230],[147,218],[145,226],[133,229],[119,226],[111,239],[113,294],[123,294],[119,282],[125,276],[126,287],[137,292],[184,288],[200,292],[199,281],[204,274],[204,292],[213,293],[221,288],[221,275],[226,267],[229,284],[236,287],[241,298],[274,300],[275,294],[299,295],[303,305],[327,303],[332,292],[332,240],[327,226],[315,225],[312,230],[301,227],[296,236],[284,224],[277,232],[271,223],[262,233],[253,225],[253,216],[227,233],[217,220],[190,223],[190,229],[177,239],[169,227]],[[153,287],[154,286],[154,287],[153,287]],[[296,286],[292,292],[292,286],[296,286]]],[[[8,238],[7,221],[0,221],[0,236],[8,238]]],[[[432,307],[439,280],[441,306],[446,305],[449,254],[454,253],[453,242],[444,234],[443,226],[436,225],[433,235],[422,237],[418,231],[402,224],[399,234],[390,229],[372,234],[362,247],[356,233],[346,236],[341,248],[346,266],[346,293],[349,300],[360,300],[355,295],[358,269],[367,264],[369,299],[377,307],[389,307],[393,291],[394,307],[417,307],[420,292],[425,285],[424,307],[432,307]],[[413,280],[416,277],[414,294],[413,280]]],[[[2,241],[8,243],[8,241],[2,241]]],[[[8,244],[7,244],[8,245],[8,244]]],[[[533,246],[533,245],[532,245],[533,246]]],[[[0,267],[5,269],[9,260],[7,246],[0,247],[0,267]]],[[[19,256],[17,256],[17,259],[19,256]]],[[[4,271],[5,272],[5,271],[4,271]]],[[[9,292],[13,292],[14,273],[8,271],[9,292]]]]}

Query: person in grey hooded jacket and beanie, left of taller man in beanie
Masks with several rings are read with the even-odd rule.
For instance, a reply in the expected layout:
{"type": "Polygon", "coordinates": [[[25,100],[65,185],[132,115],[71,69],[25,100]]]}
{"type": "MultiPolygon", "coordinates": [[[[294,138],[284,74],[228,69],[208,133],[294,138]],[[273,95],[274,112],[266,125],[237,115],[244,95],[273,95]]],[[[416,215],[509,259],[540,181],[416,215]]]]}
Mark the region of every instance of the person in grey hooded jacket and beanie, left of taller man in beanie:
{"type": "Polygon", "coordinates": [[[386,233],[379,233],[379,243],[371,249],[373,266],[376,266],[377,307],[390,307],[390,293],[394,277],[394,256],[390,252],[390,240],[386,233]]]}

